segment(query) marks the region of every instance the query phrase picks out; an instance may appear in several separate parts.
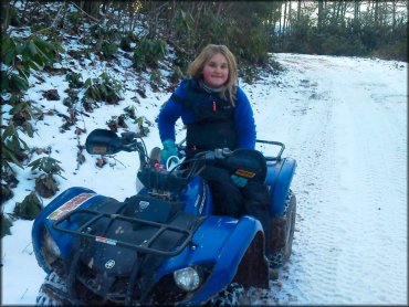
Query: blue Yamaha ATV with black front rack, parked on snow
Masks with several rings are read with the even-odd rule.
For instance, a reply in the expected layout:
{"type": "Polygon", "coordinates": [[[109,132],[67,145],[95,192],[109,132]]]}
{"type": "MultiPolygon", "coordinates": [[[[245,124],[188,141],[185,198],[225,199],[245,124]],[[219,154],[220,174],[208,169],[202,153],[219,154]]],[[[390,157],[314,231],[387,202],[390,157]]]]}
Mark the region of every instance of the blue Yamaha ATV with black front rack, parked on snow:
{"type": "MultiPolygon", "coordinates": [[[[249,287],[269,288],[269,272],[289,260],[295,195],[295,160],[260,151],[216,149],[166,168],[159,148],[147,150],[134,133],[96,129],[86,139],[93,155],[137,151],[144,188],[123,202],[86,188],[57,195],[33,223],[39,265],[48,273],[38,305],[238,305],[249,287]],[[223,160],[232,173],[269,186],[271,242],[259,220],[212,214],[207,163],[223,160]],[[265,256],[270,244],[272,257],[265,256]]],[[[185,146],[178,145],[179,158],[185,146]]]]}

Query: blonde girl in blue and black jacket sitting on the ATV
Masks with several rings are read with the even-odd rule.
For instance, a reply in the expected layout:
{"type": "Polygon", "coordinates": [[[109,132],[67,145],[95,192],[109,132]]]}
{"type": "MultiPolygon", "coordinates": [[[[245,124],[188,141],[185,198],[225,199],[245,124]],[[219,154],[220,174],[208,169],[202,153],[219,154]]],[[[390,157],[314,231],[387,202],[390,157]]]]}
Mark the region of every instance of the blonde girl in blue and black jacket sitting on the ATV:
{"type": "MultiPolygon", "coordinates": [[[[237,63],[230,50],[224,45],[207,45],[190,64],[188,74],[190,78],[181,82],[160,109],[162,163],[177,155],[175,123],[179,117],[187,126],[187,158],[214,148],[254,149],[253,112],[244,92],[237,85],[237,63]]],[[[200,176],[210,186],[216,214],[234,218],[252,214],[261,220],[265,233],[269,232],[265,229],[270,220],[265,186],[230,176],[218,166],[207,166],[200,176]]]]}

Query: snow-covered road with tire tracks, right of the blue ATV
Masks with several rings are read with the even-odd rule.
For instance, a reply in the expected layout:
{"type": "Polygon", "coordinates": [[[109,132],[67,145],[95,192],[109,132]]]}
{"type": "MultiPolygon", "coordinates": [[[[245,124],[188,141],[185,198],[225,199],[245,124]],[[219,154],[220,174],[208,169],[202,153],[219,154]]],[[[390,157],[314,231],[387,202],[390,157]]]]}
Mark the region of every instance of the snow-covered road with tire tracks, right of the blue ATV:
{"type": "MultiPolygon", "coordinates": [[[[298,168],[291,262],[255,304],[407,304],[407,66],[277,54],[277,87],[248,92],[260,138],[298,168]],[[285,156],[285,155],[284,155],[285,156]]],[[[266,88],[265,85],[259,85],[266,88]]]]}

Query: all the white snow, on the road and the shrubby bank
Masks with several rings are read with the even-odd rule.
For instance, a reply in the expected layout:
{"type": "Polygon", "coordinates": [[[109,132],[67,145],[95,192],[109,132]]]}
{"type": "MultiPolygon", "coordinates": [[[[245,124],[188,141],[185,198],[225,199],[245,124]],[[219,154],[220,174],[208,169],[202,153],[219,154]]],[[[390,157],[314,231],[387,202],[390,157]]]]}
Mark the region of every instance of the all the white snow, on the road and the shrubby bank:
{"type": "MultiPolygon", "coordinates": [[[[301,54],[272,57],[285,72],[240,85],[252,103],[258,138],[284,142],[283,156],[297,161],[292,183],[297,216],[290,262],[270,290],[249,292],[252,304],[407,305],[407,63],[301,54]]],[[[66,60],[62,65],[73,64],[66,60]]],[[[96,64],[82,73],[85,80],[106,70],[96,64]]],[[[154,124],[145,138],[147,148],[159,146],[155,118],[170,92],[155,93],[138,84],[128,64],[115,77],[124,78],[124,100],[118,106],[101,104],[76,126],[87,134],[106,128],[112,116],[133,105],[138,116],[154,124]],[[146,89],[146,98],[136,94],[137,87],[146,89]]],[[[44,80],[31,81],[35,86],[28,97],[44,112],[66,113],[62,99],[67,83],[57,75],[44,80]],[[60,102],[42,97],[51,88],[59,91],[60,102]]],[[[57,177],[60,192],[76,186],[118,200],[135,193],[140,184],[135,154],[117,154],[97,168],[96,157],[84,150],[86,161],[78,166],[77,144],[85,142],[86,134],[75,135],[74,127],[61,134],[62,124],[61,117],[45,115],[35,123],[34,138],[21,134],[30,147],[50,146],[50,156],[62,162],[66,180],[57,177]]],[[[177,131],[182,139],[180,121],[177,131]]],[[[34,189],[35,176],[29,169],[15,171],[20,183],[6,202],[8,213],[34,189]]],[[[46,205],[51,200],[42,201],[46,205]]],[[[33,254],[31,226],[32,221],[15,221],[12,235],[2,239],[3,305],[35,304],[45,277],[33,254]]]]}

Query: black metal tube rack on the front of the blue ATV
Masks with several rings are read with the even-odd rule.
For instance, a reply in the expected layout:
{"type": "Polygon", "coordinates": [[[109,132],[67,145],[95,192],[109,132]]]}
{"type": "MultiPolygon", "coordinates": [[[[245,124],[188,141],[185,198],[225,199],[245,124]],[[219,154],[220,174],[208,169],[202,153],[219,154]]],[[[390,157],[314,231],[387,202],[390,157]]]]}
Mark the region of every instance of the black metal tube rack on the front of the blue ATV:
{"type": "MultiPolygon", "coordinates": [[[[141,220],[141,219],[137,219],[137,218],[129,218],[129,216],[124,216],[124,215],[113,214],[113,213],[103,213],[103,212],[97,212],[97,211],[87,210],[87,209],[78,209],[78,210],[75,210],[75,211],[72,211],[72,212],[65,214],[64,216],[62,216],[61,219],[55,221],[52,224],[52,226],[53,226],[53,229],[55,229],[57,231],[65,232],[65,233],[71,233],[71,234],[83,236],[83,237],[88,237],[88,239],[95,240],[96,242],[101,242],[101,243],[104,243],[104,244],[134,248],[138,252],[143,252],[143,253],[147,253],[147,254],[155,254],[155,255],[159,255],[159,256],[176,256],[176,255],[180,254],[185,250],[185,247],[191,242],[193,232],[195,232],[196,227],[200,224],[202,219],[197,220],[197,221],[199,223],[196,223],[196,226],[188,230],[188,229],[175,226],[175,225],[171,225],[171,224],[157,223],[157,222],[141,220]],[[94,215],[94,218],[90,219],[88,221],[86,221],[84,224],[80,225],[75,230],[66,229],[66,227],[61,226],[61,223],[63,223],[63,222],[70,223],[69,220],[71,218],[73,218],[74,215],[77,215],[77,214],[90,214],[90,215],[94,215]],[[112,221],[113,220],[118,220],[118,221],[126,221],[126,222],[129,222],[132,224],[137,224],[137,225],[153,226],[153,227],[157,227],[158,230],[149,239],[144,240],[144,242],[141,242],[140,244],[125,242],[125,241],[120,241],[120,240],[117,240],[117,239],[105,237],[102,234],[97,235],[97,234],[87,233],[87,229],[92,224],[96,223],[98,220],[101,220],[103,218],[111,219],[112,221]],[[178,244],[178,246],[175,250],[171,250],[171,251],[165,251],[165,250],[159,250],[159,248],[151,247],[151,245],[166,231],[174,232],[174,233],[177,233],[177,234],[181,234],[181,239],[180,239],[181,243],[178,244]]],[[[70,223],[69,225],[72,225],[72,223],[70,223]]]]}

